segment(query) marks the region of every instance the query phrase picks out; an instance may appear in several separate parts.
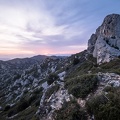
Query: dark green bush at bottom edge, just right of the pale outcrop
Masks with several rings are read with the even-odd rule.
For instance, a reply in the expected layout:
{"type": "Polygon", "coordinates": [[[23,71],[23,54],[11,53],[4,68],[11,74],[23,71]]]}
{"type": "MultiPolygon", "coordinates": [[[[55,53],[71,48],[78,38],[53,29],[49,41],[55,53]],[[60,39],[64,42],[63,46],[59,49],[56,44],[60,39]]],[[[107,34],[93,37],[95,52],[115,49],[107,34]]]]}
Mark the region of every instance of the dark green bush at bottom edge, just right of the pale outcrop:
{"type": "Polygon", "coordinates": [[[75,101],[64,103],[60,110],[55,111],[55,120],[87,120],[86,112],[75,101]]]}

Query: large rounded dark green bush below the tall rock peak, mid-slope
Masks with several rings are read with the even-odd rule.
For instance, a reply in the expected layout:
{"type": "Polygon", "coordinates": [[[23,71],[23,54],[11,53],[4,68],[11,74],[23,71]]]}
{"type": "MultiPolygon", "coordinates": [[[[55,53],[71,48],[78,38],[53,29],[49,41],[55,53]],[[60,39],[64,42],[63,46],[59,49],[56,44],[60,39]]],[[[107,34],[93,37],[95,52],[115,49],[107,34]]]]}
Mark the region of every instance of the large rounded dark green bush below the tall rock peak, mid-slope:
{"type": "Polygon", "coordinates": [[[72,79],[67,79],[65,87],[68,92],[76,98],[85,98],[90,92],[96,89],[98,78],[96,75],[82,75],[72,79]]]}

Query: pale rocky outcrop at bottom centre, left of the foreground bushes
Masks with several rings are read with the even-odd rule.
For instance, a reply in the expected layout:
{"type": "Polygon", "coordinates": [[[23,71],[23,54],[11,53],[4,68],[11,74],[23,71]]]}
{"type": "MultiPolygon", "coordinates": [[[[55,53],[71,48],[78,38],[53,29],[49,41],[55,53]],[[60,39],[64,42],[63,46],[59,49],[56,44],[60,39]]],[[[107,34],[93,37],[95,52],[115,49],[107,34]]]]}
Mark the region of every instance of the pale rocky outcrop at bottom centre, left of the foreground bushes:
{"type": "Polygon", "coordinates": [[[40,106],[37,111],[40,120],[54,120],[53,113],[55,110],[59,110],[63,107],[63,104],[65,102],[69,102],[73,98],[73,96],[68,94],[68,91],[64,88],[64,83],[57,82],[57,85],[59,85],[58,91],[54,92],[48,99],[46,99],[47,91],[54,88],[55,85],[56,84],[53,83],[52,85],[48,86],[48,88],[43,92],[40,106]]]}

